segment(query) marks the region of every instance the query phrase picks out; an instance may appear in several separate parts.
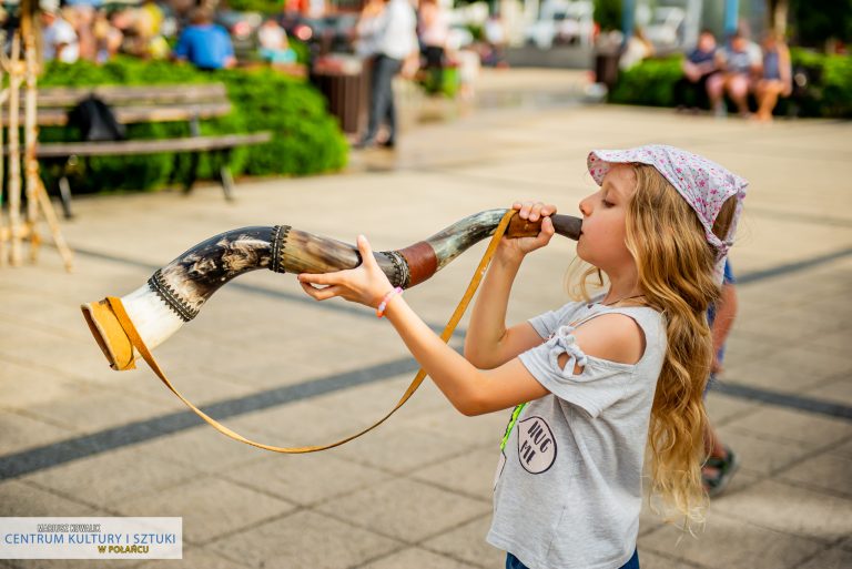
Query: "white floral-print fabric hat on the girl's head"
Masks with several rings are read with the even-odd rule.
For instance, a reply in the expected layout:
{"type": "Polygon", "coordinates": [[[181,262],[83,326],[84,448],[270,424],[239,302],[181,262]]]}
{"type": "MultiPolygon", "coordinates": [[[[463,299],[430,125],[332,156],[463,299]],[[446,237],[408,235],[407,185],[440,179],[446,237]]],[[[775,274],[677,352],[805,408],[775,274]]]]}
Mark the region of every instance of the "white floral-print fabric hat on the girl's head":
{"type": "Polygon", "coordinates": [[[611,164],[629,163],[656,167],[692,207],[704,227],[707,242],[717,251],[716,277],[717,282],[721,283],[724,260],[733,245],[737,222],[742,213],[742,200],[746,197],[746,186],[749,182],[703,156],[662,144],[628,150],[594,150],[587,160],[589,173],[598,185],[604,183],[604,176],[611,164]],[[713,233],[713,223],[722,204],[732,196],[736,196],[737,209],[728,235],[720,240],[713,233]]]}

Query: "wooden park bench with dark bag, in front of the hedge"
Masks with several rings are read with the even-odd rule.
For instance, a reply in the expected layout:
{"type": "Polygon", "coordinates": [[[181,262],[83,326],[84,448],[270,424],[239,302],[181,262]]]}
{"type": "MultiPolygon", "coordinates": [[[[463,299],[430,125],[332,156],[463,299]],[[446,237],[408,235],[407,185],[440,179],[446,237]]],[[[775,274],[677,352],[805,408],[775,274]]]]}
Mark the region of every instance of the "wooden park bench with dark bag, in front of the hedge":
{"type": "MultiPolygon", "coordinates": [[[[57,185],[65,217],[71,217],[69,164],[79,158],[153,154],[156,152],[191,153],[189,174],[183,181],[184,192],[189,193],[197,177],[199,155],[202,152],[213,152],[222,159],[222,166],[217,173],[219,182],[222,184],[225,199],[232,200],[233,179],[229,167],[231,150],[246,144],[262,144],[272,139],[270,132],[201,135],[201,120],[223,116],[231,112],[231,103],[227,100],[225,85],[222,83],[40,89],[38,124],[40,126],[65,125],[68,111],[91,94],[110,105],[115,119],[122,124],[187,122],[189,133],[186,136],[175,139],[39,143],[36,149],[36,156],[40,161],[63,162],[62,175],[57,185]]],[[[21,112],[22,120],[23,112],[21,112]]],[[[8,115],[3,115],[2,123],[3,126],[8,125],[8,115]]],[[[8,149],[6,152],[8,153],[8,149]]]]}

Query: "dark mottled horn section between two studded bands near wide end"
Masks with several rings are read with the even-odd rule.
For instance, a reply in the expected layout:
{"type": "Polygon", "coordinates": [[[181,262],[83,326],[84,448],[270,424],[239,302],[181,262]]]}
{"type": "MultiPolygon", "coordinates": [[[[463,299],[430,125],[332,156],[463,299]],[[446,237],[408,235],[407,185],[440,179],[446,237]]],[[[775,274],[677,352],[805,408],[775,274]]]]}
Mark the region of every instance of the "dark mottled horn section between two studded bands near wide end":
{"type": "Polygon", "coordinates": [[[243,273],[270,266],[273,230],[243,227],[199,243],[154,273],[149,286],[181,318],[190,321],[219,287],[243,273]]]}

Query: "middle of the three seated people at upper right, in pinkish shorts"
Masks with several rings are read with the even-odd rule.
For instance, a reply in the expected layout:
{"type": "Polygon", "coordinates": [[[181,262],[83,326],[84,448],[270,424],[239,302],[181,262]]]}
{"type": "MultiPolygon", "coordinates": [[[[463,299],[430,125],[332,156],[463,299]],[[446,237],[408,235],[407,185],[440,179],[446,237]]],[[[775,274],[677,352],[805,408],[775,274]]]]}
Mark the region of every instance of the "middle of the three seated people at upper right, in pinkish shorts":
{"type": "Polygon", "coordinates": [[[708,94],[718,115],[724,115],[724,93],[737,105],[741,116],[749,116],[749,92],[760,77],[762,62],[754,57],[749,40],[740,32],[731,38],[730,45],[722,50],[721,81],[708,81],[708,94]]]}

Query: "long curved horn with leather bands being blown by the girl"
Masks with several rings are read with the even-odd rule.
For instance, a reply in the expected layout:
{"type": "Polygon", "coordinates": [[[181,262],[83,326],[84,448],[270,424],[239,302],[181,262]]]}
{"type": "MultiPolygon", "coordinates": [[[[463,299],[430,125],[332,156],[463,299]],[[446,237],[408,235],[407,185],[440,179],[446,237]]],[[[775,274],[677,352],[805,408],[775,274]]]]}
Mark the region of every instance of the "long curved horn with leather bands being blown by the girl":
{"type": "MultiPolygon", "coordinates": [[[[374,253],[394,286],[423,283],[475,243],[494,234],[506,210],[488,210],[397,251],[374,253]]],[[[551,216],[556,232],[577,240],[582,221],[570,215],[551,216]]],[[[535,236],[541,221],[515,216],[508,237],[535,236]]],[[[211,237],[190,248],[148,283],[121,298],[144,344],[153,349],[186,322],[222,285],[243,273],[270,268],[276,273],[327,273],[361,264],[355,245],[316,236],[288,225],[243,227],[211,237]]],[[[113,369],[134,367],[139,354],[106,299],[81,306],[89,328],[113,369]]]]}

